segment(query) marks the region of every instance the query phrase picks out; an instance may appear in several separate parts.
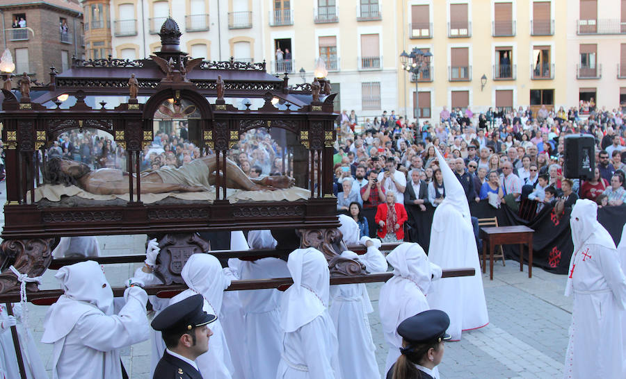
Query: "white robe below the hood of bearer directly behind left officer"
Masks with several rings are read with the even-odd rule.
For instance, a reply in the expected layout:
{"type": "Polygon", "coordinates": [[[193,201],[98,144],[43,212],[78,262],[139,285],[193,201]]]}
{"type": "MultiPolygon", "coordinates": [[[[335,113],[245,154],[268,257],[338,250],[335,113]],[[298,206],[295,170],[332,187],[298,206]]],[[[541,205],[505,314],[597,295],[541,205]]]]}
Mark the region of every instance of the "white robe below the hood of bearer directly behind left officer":
{"type": "MultiPolygon", "coordinates": [[[[198,293],[192,289],[185,289],[170,299],[170,305],[195,294],[198,293]]],[[[202,310],[209,314],[216,314],[213,306],[209,304],[206,298],[204,299],[202,310]]],[[[198,370],[204,379],[230,379],[232,378],[231,371],[233,370],[232,361],[230,360],[230,352],[228,351],[228,344],[220,319],[218,318],[210,323],[209,329],[213,332],[211,339],[209,339],[209,351],[197,357],[195,364],[198,365],[198,370]]]]}

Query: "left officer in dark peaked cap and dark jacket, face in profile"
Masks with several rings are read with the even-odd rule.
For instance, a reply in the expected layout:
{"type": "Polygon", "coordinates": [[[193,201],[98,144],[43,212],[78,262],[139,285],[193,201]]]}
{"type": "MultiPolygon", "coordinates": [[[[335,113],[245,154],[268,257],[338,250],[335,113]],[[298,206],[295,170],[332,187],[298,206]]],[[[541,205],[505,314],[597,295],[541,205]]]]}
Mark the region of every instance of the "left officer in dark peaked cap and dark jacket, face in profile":
{"type": "Polygon", "coordinates": [[[202,295],[185,298],[157,314],[152,328],[161,331],[167,348],[154,369],[154,379],[202,379],[195,358],[209,350],[208,324],[217,319],[202,310],[202,295]]]}

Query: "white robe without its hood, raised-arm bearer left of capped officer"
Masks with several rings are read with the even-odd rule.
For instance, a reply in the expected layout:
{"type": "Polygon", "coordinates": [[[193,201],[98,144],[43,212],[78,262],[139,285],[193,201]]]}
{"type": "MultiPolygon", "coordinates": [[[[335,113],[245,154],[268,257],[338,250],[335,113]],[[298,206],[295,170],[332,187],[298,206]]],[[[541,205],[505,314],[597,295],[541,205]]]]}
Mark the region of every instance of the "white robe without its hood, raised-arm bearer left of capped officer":
{"type": "MultiPolygon", "coordinates": [[[[119,349],[150,337],[145,316],[147,294],[141,288],[130,287],[124,298],[124,308],[111,316],[86,301],[66,296],[59,298],[56,305],[63,302],[65,309],[83,314],[65,337],[54,342],[51,355],[53,379],[122,377],[119,349]]],[[[42,339],[42,342],[45,341],[42,339]]]]}

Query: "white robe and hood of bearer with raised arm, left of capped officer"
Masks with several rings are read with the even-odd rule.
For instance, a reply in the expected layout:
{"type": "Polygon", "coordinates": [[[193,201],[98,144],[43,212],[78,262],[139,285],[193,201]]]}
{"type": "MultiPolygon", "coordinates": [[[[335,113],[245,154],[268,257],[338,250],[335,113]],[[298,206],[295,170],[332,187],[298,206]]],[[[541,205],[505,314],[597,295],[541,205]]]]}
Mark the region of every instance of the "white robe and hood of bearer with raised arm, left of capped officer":
{"type": "Polygon", "coordinates": [[[54,344],[52,378],[121,378],[119,349],[150,337],[147,294],[127,288],[126,305],[113,314],[113,291],[97,262],[62,267],[55,277],[65,294],[50,305],[41,339],[54,344]]]}

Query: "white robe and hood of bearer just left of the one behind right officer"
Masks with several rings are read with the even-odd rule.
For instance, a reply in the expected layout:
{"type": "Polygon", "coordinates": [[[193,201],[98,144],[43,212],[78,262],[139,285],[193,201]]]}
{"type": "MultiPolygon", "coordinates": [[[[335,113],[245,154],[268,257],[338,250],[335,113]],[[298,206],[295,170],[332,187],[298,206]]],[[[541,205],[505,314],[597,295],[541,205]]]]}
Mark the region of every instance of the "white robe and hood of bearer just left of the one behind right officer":
{"type": "MultiPolygon", "coordinates": [[[[359,243],[359,226],[353,218],[339,215],[339,228],[346,245],[359,243]]],[[[369,239],[369,238],[368,238],[369,239]]],[[[358,255],[344,251],[342,257],[358,260],[369,273],[387,271],[387,261],[376,246],[369,246],[367,253],[358,255]]],[[[330,317],[337,330],[339,342],[339,366],[342,377],[378,379],[380,371],[376,363],[376,346],[371,337],[367,314],[374,312],[364,283],[330,286],[330,317]]]]}

